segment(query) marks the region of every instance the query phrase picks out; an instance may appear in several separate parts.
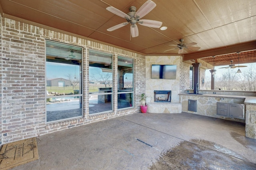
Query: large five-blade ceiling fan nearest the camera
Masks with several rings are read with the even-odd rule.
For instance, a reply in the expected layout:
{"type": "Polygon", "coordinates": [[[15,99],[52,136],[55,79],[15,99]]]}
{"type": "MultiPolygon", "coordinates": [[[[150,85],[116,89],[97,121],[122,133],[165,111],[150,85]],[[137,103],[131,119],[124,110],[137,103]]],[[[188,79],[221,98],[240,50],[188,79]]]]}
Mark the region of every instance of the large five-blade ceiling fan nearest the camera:
{"type": "Polygon", "coordinates": [[[139,31],[138,31],[138,27],[137,27],[136,23],[138,23],[140,25],[147,26],[147,27],[159,28],[162,25],[161,21],[141,20],[142,17],[144,17],[146,14],[148,14],[155,7],[156,7],[156,4],[152,0],[148,0],[147,2],[145,2],[138,9],[137,12],[135,12],[136,11],[136,7],[135,6],[131,6],[129,8],[130,12],[128,14],[125,14],[124,12],[118,10],[117,8],[114,8],[113,6],[109,6],[109,7],[106,8],[106,10],[116,14],[117,16],[125,18],[126,22],[120,23],[120,24],[115,25],[113,27],[110,27],[107,30],[108,31],[114,31],[114,30],[116,30],[118,28],[121,28],[121,27],[127,25],[128,23],[130,23],[131,24],[130,31],[131,31],[132,37],[138,37],[139,31]]]}

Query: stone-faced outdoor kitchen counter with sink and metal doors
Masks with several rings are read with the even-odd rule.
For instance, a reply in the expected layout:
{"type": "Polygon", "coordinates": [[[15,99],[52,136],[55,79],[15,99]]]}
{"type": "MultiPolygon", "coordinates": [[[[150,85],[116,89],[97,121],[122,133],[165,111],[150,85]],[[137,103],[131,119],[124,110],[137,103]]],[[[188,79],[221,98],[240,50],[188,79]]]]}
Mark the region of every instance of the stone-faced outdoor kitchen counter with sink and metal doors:
{"type": "Polygon", "coordinates": [[[245,136],[256,139],[256,96],[187,93],[179,95],[180,102],[182,103],[182,111],[245,123],[245,136]],[[188,100],[196,100],[197,111],[188,110],[188,100]],[[244,119],[217,115],[217,102],[244,104],[244,119]]]}

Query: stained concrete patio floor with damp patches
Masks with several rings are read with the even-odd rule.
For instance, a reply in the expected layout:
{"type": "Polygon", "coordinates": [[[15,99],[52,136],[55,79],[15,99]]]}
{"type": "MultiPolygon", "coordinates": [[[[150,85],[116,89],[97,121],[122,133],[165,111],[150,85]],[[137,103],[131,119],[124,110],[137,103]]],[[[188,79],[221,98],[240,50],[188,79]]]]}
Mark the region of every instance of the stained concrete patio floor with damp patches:
{"type": "Polygon", "coordinates": [[[244,123],[134,113],[38,137],[39,159],[13,170],[255,170],[244,123]]]}

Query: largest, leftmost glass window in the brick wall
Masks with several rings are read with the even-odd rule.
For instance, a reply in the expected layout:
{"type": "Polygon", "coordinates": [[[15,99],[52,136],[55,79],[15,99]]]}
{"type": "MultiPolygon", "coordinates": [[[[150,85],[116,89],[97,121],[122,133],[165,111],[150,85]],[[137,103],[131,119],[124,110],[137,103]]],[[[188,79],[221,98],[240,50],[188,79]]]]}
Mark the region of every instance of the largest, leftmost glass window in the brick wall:
{"type": "Polygon", "coordinates": [[[46,41],[46,121],[82,116],[82,48],[46,41]]]}

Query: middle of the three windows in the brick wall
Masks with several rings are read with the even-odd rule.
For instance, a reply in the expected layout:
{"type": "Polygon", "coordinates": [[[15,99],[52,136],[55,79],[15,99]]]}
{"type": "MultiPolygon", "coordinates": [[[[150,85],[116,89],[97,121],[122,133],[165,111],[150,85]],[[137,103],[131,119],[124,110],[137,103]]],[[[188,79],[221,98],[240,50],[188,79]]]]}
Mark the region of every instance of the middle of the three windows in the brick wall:
{"type": "Polygon", "coordinates": [[[89,50],[89,114],[112,111],[112,54],[89,50]]]}

